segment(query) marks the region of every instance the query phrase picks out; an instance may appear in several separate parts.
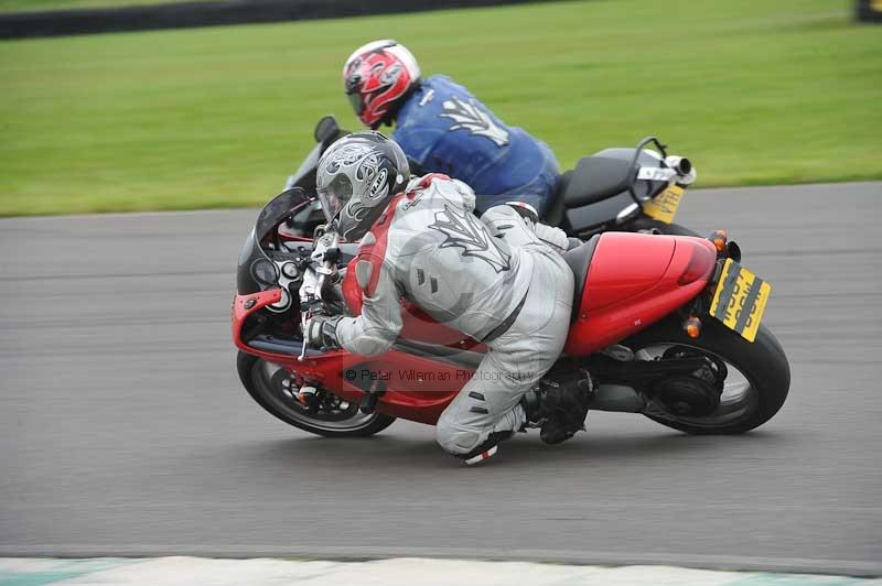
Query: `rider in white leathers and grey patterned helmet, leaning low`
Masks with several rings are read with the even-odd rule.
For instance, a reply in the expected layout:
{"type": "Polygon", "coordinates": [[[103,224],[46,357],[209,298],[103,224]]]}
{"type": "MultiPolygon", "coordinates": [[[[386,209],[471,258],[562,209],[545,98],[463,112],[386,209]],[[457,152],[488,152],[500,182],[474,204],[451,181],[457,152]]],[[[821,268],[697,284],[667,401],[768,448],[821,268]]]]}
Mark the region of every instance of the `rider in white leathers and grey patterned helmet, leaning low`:
{"type": "Polygon", "coordinates": [[[338,234],[361,238],[347,278],[363,306],[356,317],[312,319],[313,345],[386,351],[401,330],[405,297],[490,348],[438,422],[445,451],[480,462],[530,422],[545,422],[544,440],[557,443],[577,431],[556,420],[561,410],[581,413],[581,426],[589,391],[559,388],[525,400],[567,338],[573,274],[560,256],[563,231],[536,223],[528,206],[496,206],[478,220],[467,185],[437,174],[408,181],[404,153],[378,132],[333,144],[316,183],[338,234]]]}

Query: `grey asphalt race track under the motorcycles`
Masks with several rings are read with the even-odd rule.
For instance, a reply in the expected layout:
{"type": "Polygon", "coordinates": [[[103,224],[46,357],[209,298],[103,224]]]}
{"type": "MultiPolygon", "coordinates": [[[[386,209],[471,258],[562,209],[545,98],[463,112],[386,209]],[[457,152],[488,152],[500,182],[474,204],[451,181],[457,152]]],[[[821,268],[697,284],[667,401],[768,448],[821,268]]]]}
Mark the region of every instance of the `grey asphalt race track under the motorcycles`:
{"type": "Polygon", "coordinates": [[[777,417],[691,437],[593,413],[482,467],[433,430],[312,437],[229,340],[256,210],[0,220],[0,555],[443,555],[882,574],[882,184],[687,193],[773,284],[777,417]]]}

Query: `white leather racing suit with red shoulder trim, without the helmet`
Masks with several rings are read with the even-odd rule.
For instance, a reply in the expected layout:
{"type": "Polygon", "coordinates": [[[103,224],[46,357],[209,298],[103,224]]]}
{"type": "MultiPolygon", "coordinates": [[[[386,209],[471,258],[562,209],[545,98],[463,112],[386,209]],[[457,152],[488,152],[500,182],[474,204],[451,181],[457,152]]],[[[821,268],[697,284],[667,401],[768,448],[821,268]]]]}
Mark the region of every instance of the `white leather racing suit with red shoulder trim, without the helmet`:
{"type": "Polygon", "coordinates": [[[460,456],[525,423],[520,399],[557,361],[573,295],[563,231],[507,205],[478,220],[474,203],[467,185],[444,175],[412,180],[363,238],[362,314],[334,332],[348,351],[381,354],[398,338],[405,297],[483,340],[490,351],[438,422],[438,443],[460,456]]]}

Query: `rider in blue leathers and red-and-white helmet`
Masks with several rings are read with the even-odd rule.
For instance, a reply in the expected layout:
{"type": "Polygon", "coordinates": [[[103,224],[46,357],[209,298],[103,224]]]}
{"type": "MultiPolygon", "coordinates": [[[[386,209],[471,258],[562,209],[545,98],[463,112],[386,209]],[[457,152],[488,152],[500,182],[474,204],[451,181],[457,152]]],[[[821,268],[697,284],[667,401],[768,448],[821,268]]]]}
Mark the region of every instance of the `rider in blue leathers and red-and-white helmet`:
{"type": "Polygon", "coordinates": [[[359,47],[343,68],[358,118],[376,129],[395,123],[392,139],[423,173],[444,173],[470,185],[483,211],[509,200],[541,216],[559,182],[551,149],[508,127],[466,88],[447,76],[420,79],[413,55],[395,41],[359,47]]]}

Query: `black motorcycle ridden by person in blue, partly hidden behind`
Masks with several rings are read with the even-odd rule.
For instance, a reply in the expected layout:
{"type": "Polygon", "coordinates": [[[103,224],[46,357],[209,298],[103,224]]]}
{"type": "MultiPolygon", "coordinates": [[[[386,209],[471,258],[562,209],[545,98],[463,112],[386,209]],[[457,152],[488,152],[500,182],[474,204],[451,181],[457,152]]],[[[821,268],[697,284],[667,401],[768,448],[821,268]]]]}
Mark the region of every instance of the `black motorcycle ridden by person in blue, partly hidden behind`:
{"type": "MultiPolygon", "coordinates": [[[[288,220],[289,234],[311,238],[315,227],[324,224],[315,197],[316,165],[325,149],[346,134],[333,116],[315,126],[315,146],[286,185],[286,189],[301,187],[314,202],[288,220]]],[[[411,173],[422,174],[422,170],[411,162],[411,173]]],[[[580,239],[611,230],[698,236],[674,224],[682,195],[695,178],[688,159],[668,155],[664,144],[647,137],[633,149],[605,149],[583,156],[576,169],[561,175],[542,221],[580,239]],[[650,145],[656,150],[648,149],[650,145]]]]}

